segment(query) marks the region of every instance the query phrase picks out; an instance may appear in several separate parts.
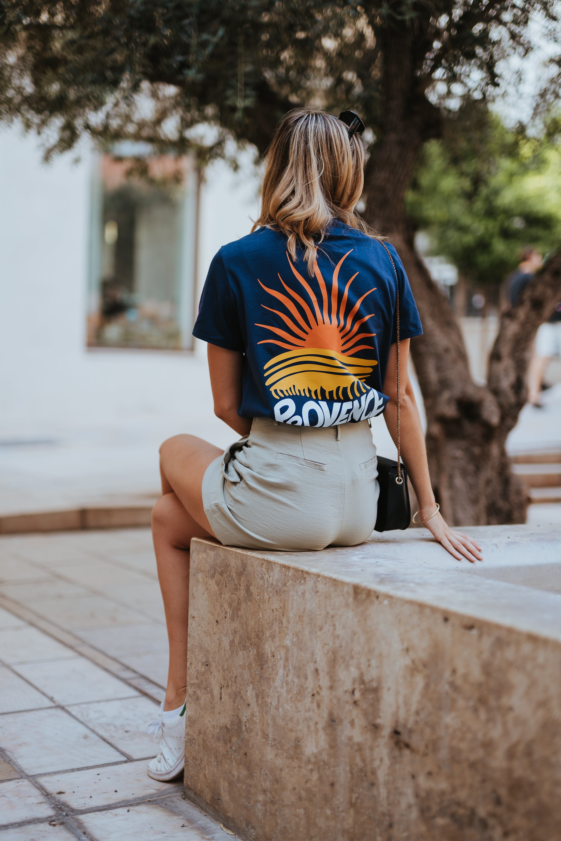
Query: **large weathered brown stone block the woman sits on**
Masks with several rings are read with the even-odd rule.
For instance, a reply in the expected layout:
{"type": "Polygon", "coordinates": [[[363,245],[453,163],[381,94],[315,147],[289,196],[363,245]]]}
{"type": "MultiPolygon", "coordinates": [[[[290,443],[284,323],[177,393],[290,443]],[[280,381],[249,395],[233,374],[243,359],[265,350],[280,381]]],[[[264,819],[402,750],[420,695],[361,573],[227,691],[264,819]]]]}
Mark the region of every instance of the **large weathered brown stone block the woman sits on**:
{"type": "Polygon", "coordinates": [[[251,841],[561,838],[561,527],[191,544],[186,796],[251,841]]]}

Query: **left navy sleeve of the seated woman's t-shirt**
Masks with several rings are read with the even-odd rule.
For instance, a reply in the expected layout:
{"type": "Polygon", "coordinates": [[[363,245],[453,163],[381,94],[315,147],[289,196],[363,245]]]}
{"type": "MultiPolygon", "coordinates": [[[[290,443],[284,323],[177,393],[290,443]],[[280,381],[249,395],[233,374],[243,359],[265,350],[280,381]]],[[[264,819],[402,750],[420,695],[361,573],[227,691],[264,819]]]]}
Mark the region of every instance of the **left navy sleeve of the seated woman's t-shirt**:
{"type": "Polygon", "coordinates": [[[208,269],[193,336],[228,351],[244,352],[238,309],[220,251],[208,269]]]}

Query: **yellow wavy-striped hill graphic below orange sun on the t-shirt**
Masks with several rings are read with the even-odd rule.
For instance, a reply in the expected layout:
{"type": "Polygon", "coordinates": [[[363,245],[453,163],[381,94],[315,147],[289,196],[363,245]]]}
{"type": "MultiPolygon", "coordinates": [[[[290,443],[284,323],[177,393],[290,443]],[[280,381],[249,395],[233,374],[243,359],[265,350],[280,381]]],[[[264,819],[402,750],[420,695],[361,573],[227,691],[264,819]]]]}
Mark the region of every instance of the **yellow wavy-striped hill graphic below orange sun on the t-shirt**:
{"type": "Polygon", "coordinates": [[[375,365],[375,359],[348,357],[320,347],[298,348],[265,364],[265,385],[276,398],[289,394],[317,399],[359,397],[368,391],[363,381],[375,365]]]}

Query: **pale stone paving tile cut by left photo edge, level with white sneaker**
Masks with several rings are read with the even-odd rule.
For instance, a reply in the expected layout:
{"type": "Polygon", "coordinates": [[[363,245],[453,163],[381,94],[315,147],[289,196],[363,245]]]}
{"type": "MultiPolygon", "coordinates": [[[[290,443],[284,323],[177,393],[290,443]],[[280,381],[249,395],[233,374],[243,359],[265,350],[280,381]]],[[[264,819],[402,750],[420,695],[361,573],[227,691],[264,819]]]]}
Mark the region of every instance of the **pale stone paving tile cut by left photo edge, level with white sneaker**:
{"type": "Polygon", "coordinates": [[[26,774],[115,763],[123,754],[58,708],[0,716],[0,744],[26,774]]]}

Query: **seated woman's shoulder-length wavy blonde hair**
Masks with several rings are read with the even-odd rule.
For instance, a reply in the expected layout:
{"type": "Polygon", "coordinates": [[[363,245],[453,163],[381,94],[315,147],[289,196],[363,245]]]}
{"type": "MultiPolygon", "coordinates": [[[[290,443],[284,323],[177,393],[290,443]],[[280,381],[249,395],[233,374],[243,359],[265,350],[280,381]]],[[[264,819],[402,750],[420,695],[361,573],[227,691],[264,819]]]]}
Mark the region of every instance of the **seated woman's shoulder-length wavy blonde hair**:
{"type": "Polygon", "coordinates": [[[319,108],[294,108],[281,119],[265,155],[261,213],[253,228],[274,225],[304,248],[313,274],[317,246],[328,225],[339,220],[378,238],[354,208],[364,187],[364,145],[349,140],[347,126],[319,108]]]}

